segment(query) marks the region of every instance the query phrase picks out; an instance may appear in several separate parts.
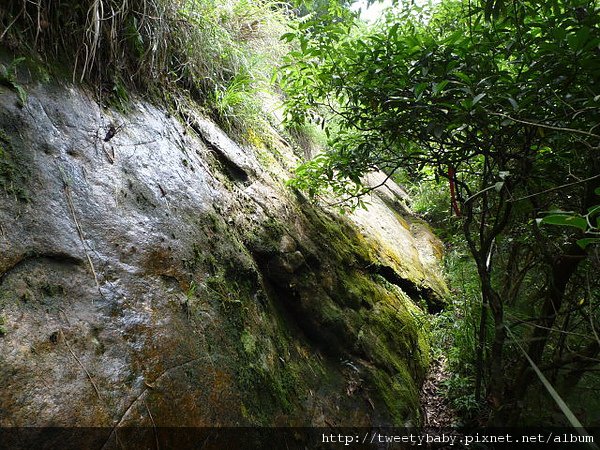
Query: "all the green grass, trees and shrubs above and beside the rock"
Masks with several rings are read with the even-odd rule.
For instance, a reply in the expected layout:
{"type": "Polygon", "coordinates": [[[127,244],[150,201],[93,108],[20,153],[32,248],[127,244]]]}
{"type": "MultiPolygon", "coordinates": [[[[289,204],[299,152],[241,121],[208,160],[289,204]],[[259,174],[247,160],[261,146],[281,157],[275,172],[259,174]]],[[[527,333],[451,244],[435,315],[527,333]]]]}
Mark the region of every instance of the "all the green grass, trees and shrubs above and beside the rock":
{"type": "MultiPolygon", "coordinates": [[[[596,2],[400,3],[370,26],[322,0],[49,3],[4,2],[2,45],[119,105],[131,89],[176,108],[189,96],[247,137],[280,65],[288,129],[328,137],[294,186],[360,205],[362,176],[384,170],[446,238],[454,306],[436,336],[466,417],[565,423],[549,388],[600,423],[596,2]]],[[[23,101],[21,63],[0,82],[23,101]]]]}

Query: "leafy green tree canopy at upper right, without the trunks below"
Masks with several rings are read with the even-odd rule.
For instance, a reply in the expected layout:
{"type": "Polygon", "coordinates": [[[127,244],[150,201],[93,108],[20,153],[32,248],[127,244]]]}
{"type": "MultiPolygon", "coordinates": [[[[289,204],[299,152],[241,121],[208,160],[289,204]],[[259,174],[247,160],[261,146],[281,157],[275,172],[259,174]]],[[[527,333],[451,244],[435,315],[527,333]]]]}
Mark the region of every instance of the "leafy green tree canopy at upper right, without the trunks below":
{"type": "MultiPolygon", "coordinates": [[[[357,35],[347,16],[300,23],[284,36],[301,48],[282,68],[288,119],[326,115],[340,127],[331,139],[332,157],[320,164],[324,179],[356,178],[373,166],[416,169],[424,162],[443,175],[444,167],[470,162],[482,149],[520,151],[523,141],[534,147],[525,151],[541,157],[537,138],[543,136],[536,135],[549,134],[546,127],[570,123],[587,132],[595,125],[600,99],[593,92],[598,61],[589,52],[598,39],[593,8],[581,22],[573,8],[558,17],[543,8],[518,34],[510,23],[496,26],[481,15],[453,23],[450,14],[462,5],[444,8],[428,25],[403,12],[385,29],[357,35]],[[565,73],[576,75],[566,79],[565,73]],[[573,99],[568,106],[556,98],[559,91],[573,99]],[[539,123],[524,126],[520,117],[532,113],[539,123]]],[[[563,134],[545,140],[558,139],[563,134]]],[[[574,150],[557,159],[569,153],[574,150]]]]}

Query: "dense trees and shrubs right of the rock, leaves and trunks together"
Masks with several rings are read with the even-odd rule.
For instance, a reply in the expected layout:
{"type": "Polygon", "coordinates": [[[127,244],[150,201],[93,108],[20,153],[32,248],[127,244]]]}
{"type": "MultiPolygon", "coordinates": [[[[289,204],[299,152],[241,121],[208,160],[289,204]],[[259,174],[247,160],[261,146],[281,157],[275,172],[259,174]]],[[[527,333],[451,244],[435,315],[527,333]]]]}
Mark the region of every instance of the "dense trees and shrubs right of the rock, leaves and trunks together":
{"type": "MultiPolygon", "coordinates": [[[[599,20],[586,0],[454,1],[397,5],[374,27],[331,9],[285,35],[298,43],[288,120],[330,137],[297,187],[360,203],[369,170],[429,192],[446,180],[439,225],[468,249],[479,286],[460,308],[473,323],[454,368],[487,423],[523,423],[550,399],[542,379],[577,402],[598,388],[599,20]]],[[[563,420],[542,411],[527,420],[563,420]]]]}

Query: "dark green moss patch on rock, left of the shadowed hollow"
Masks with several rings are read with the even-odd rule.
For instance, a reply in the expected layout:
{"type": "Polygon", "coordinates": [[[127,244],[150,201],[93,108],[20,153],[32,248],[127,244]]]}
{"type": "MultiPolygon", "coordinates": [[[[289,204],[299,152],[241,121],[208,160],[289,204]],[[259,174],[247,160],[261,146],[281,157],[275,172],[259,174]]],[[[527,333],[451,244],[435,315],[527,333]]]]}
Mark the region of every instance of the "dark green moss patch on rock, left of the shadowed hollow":
{"type": "Polygon", "coordinates": [[[256,301],[261,288],[255,277],[215,258],[217,273],[199,285],[196,302],[209,302],[221,311],[218,316],[226,318],[219,324],[221,338],[211,336],[211,346],[224,357],[224,368],[235,374],[242,416],[252,425],[271,425],[278,414],[297,409],[297,389],[303,385],[295,365],[280,358],[289,353],[288,329],[261,312],[256,301]]]}

